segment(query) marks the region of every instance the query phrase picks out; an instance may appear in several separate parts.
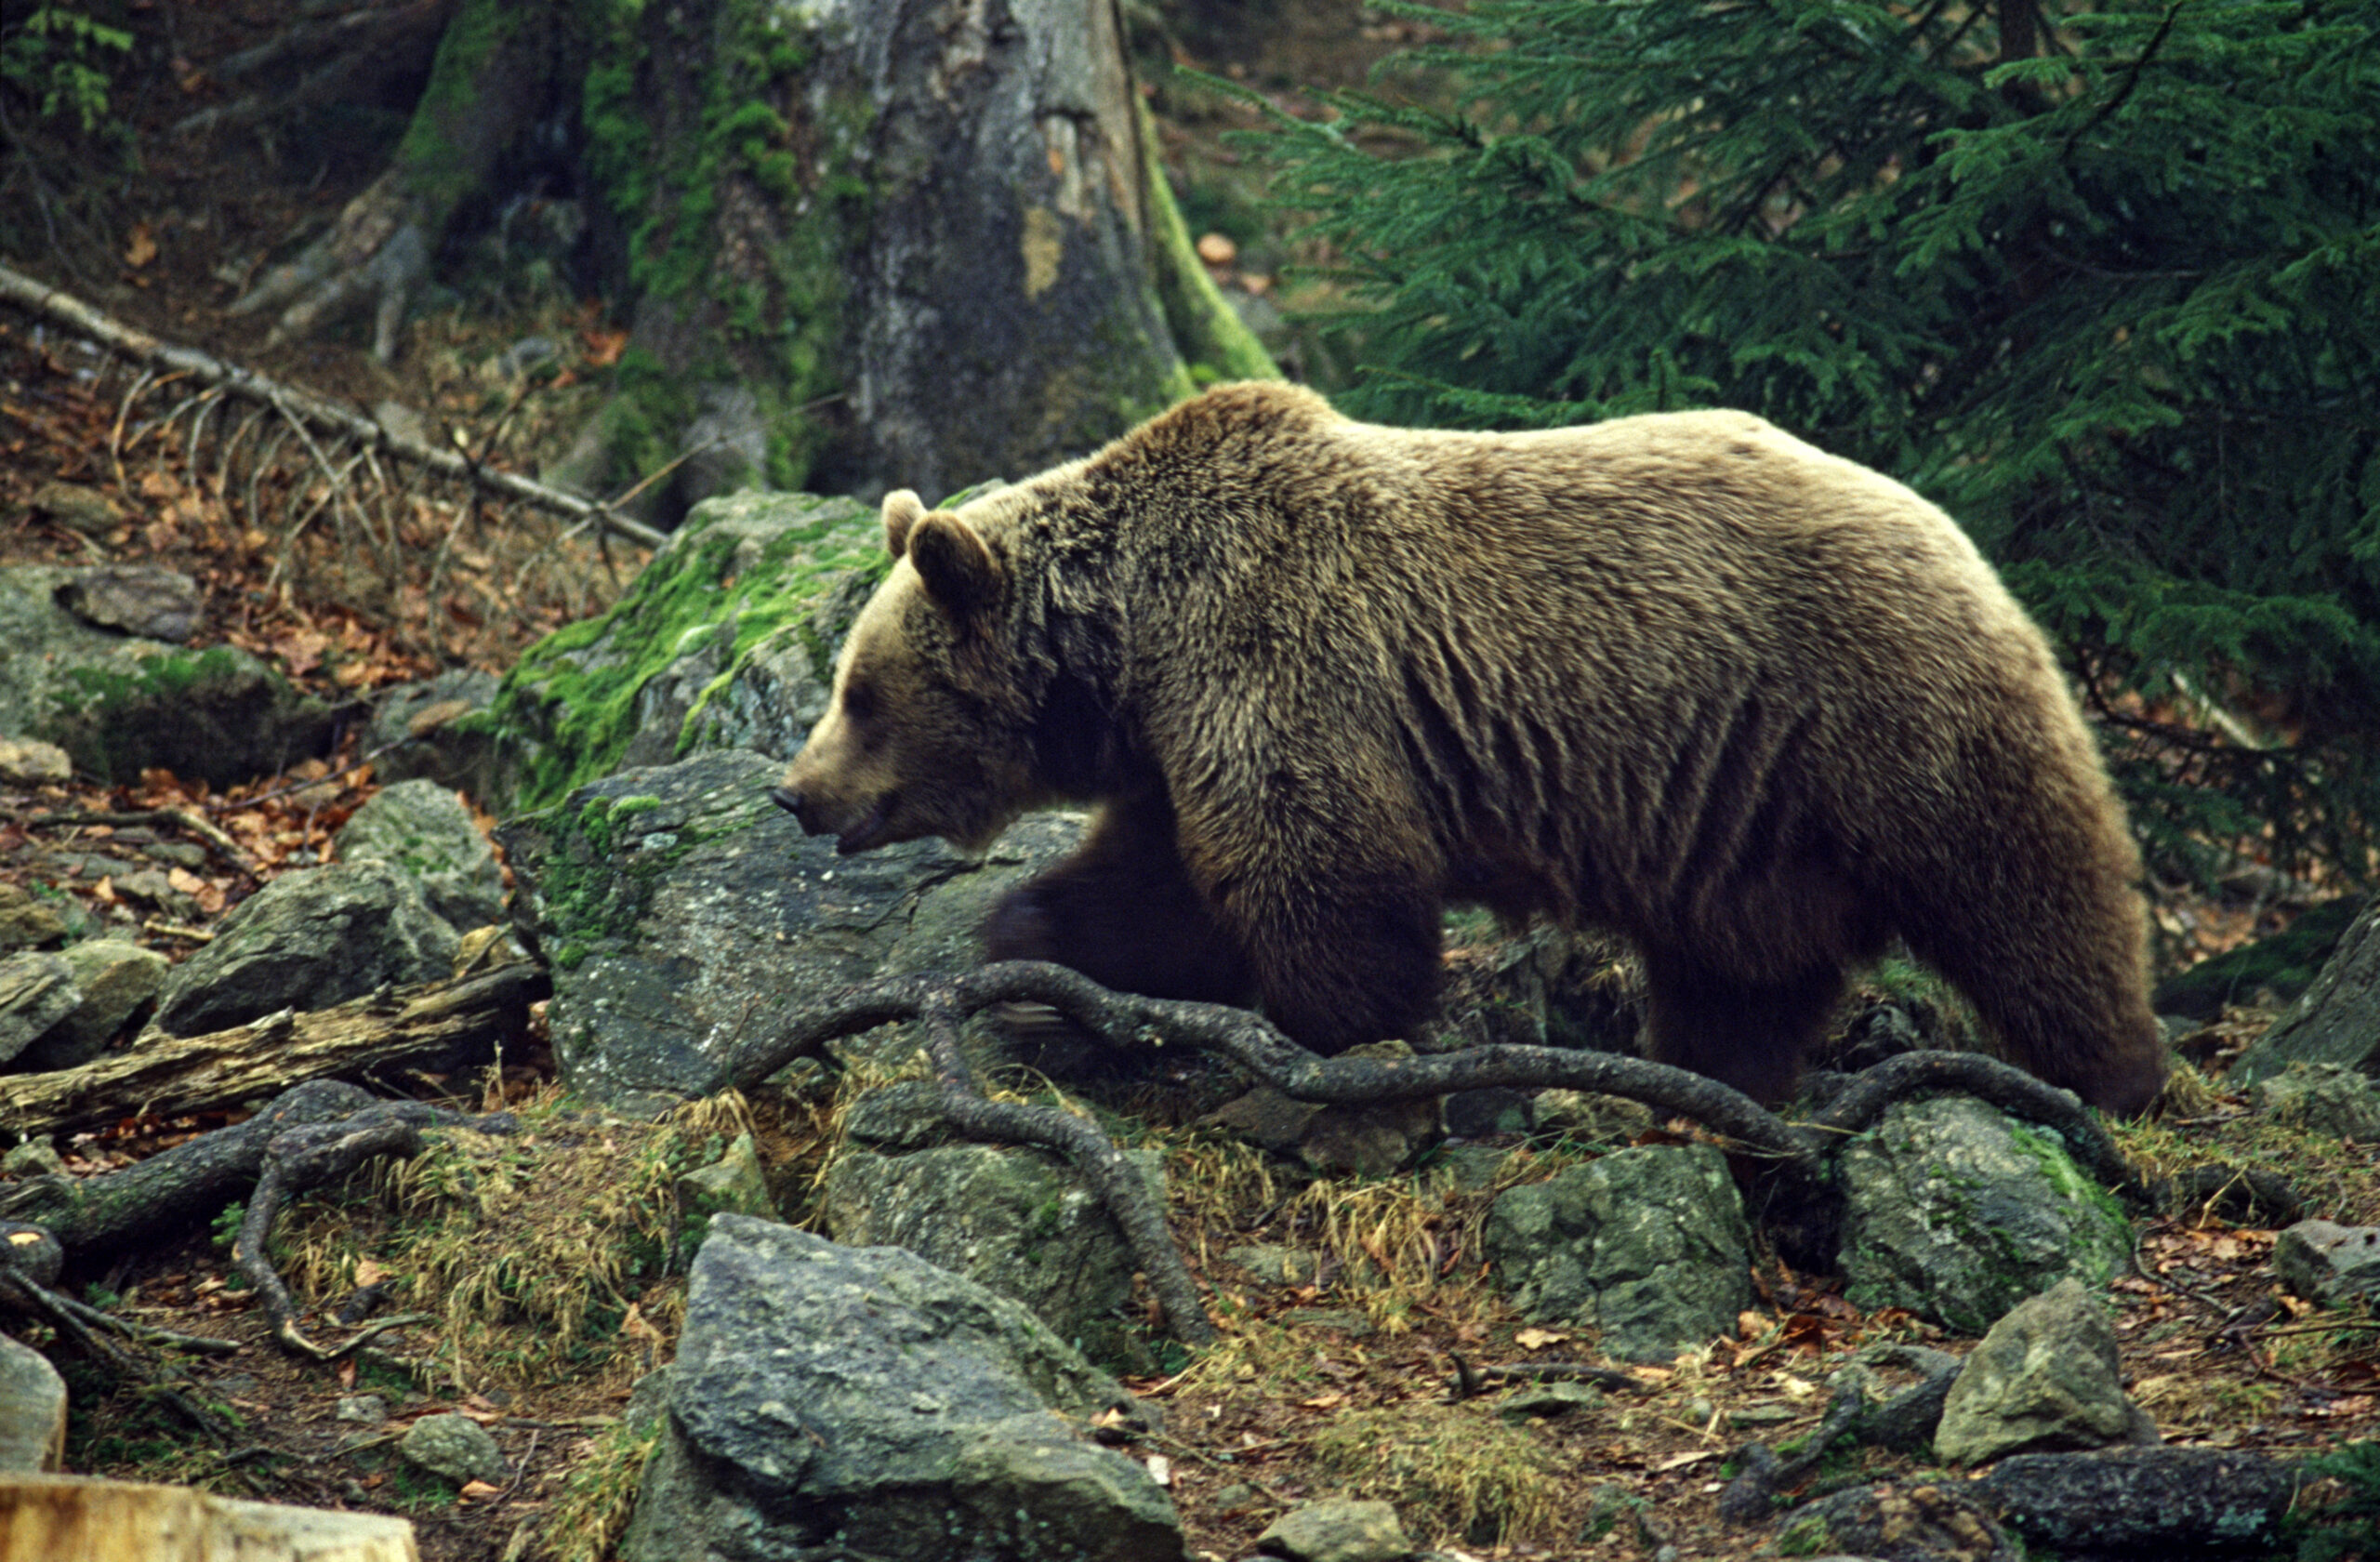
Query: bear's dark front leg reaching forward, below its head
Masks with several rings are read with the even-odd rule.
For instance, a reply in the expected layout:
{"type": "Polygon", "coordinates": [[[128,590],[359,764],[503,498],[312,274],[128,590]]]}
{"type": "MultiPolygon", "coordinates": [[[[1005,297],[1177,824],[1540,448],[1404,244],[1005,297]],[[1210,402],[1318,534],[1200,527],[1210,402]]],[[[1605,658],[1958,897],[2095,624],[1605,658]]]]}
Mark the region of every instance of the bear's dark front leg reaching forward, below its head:
{"type": "Polygon", "coordinates": [[[1142,998],[1250,1005],[1254,969],[1207,910],[1157,800],[1109,802],[1069,857],[1000,898],[985,960],[1052,960],[1142,998]]]}

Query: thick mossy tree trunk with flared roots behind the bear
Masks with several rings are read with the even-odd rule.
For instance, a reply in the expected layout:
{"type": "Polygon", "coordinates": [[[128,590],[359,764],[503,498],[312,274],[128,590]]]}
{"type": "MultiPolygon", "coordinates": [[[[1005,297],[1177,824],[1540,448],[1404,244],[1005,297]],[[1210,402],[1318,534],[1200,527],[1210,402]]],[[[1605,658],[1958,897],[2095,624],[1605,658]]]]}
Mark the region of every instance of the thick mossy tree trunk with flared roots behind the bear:
{"type": "Polygon", "coordinates": [[[371,298],[386,350],[447,231],[557,140],[633,329],[547,476],[683,455],[662,519],[1014,479],[1273,374],[1190,252],[1116,0],[459,0],[395,167],[243,307],[295,333],[371,298]]]}

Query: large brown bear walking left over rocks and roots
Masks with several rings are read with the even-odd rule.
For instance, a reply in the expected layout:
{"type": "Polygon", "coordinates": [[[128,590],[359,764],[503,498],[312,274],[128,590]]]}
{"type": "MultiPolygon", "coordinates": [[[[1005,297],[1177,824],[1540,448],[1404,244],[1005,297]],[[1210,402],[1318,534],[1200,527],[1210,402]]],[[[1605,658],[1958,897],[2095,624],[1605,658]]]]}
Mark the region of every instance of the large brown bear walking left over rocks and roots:
{"type": "Polygon", "coordinates": [[[1790,1093],[1897,933],[2006,1057],[2166,1071],[2140,862],[2042,633],[1909,488],[1742,412],[1537,433],[1221,386],[926,512],[776,791],[859,852],[1095,805],[992,960],[1411,1036],[1440,914],[1630,936],[1652,1055],[1790,1093]]]}

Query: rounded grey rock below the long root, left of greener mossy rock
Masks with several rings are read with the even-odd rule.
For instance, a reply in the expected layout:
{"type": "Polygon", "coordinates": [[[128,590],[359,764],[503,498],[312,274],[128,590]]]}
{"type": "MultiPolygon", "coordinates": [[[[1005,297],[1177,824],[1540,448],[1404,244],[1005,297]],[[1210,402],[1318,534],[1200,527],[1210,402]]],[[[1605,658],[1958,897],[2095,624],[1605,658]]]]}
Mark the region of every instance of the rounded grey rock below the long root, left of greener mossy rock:
{"type": "Polygon", "coordinates": [[[1752,1305],[1742,1195],[1709,1145],[1616,1150],[1511,1188],[1483,1236],[1514,1307],[1595,1326],[1628,1362],[1733,1333],[1752,1305]]]}

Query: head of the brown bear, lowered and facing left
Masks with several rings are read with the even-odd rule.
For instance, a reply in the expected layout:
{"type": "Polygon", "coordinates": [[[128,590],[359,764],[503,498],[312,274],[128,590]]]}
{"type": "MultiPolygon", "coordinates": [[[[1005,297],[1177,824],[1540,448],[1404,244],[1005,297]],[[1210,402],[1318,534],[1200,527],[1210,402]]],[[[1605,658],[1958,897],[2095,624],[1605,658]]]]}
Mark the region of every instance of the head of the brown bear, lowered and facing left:
{"type": "Polygon", "coordinates": [[[845,855],[923,836],[981,852],[1038,800],[1033,702],[1004,633],[1014,579],[981,531],[907,488],[883,517],[892,574],[771,798],[845,855]]]}

